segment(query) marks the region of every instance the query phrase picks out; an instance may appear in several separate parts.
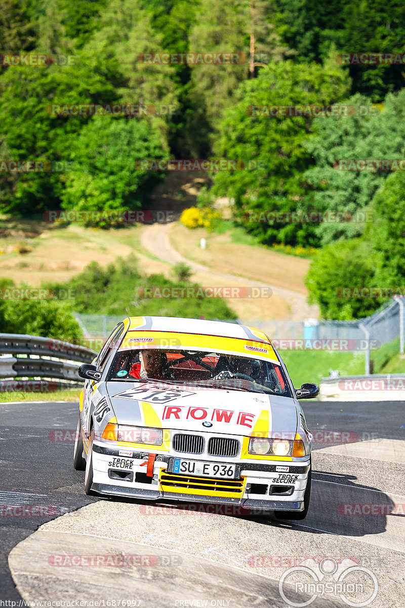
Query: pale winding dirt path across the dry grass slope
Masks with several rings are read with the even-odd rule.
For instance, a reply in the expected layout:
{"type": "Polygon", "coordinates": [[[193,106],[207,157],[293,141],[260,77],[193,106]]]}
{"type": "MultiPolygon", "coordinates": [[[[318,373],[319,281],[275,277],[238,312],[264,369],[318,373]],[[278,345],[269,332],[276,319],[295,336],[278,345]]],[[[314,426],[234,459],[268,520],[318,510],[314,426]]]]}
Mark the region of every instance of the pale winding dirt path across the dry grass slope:
{"type": "MultiPolygon", "coordinates": [[[[270,298],[228,299],[228,304],[243,322],[252,323],[254,320],[261,322],[296,321],[318,316],[317,307],[307,304],[305,293],[226,272],[226,264],[223,265],[225,272],[218,272],[205,264],[184,257],[171,243],[170,233],[175,225],[175,223],[168,223],[145,226],[141,232],[141,245],[150,254],[166,263],[185,262],[193,271],[192,279],[203,286],[257,286],[271,289],[273,295],[270,298]]],[[[273,252],[271,254],[282,255],[273,252]]],[[[302,289],[301,285],[300,288],[302,289]]]]}

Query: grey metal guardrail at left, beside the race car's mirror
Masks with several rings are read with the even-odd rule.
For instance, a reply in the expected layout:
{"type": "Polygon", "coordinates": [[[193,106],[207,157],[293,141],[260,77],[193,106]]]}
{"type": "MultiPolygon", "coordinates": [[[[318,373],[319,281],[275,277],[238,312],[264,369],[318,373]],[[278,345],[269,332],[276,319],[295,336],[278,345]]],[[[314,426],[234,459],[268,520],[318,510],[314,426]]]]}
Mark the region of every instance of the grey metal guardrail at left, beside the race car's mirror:
{"type": "Polygon", "coordinates": [[[95,356],[97,353],[90,348],[61,340],[27,334],[0,334],[0,392],[33,390],[33,385],[38,386],[32,381],[16,381],[24,378],[39,379],[39,383],[47,385],[49,390],[81,387],[83,380],[77,373],[78,367],[92,362],[95,356]],[[63,382],[49,382],[55,378],[63,382]]]}

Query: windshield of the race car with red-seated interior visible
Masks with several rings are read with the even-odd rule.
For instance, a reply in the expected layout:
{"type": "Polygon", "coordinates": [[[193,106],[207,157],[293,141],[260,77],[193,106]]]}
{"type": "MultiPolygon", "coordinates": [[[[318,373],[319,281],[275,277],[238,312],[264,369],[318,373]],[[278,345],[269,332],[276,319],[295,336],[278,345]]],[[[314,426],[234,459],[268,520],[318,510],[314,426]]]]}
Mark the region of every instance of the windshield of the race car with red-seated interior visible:
{"type": "Polygon", "coordinates": [[[292,396],[281,365],[262,359],[206,351],[121,350],[109,368],[107,381],[110,380],[153,380],[202,389],[292,396]]]}

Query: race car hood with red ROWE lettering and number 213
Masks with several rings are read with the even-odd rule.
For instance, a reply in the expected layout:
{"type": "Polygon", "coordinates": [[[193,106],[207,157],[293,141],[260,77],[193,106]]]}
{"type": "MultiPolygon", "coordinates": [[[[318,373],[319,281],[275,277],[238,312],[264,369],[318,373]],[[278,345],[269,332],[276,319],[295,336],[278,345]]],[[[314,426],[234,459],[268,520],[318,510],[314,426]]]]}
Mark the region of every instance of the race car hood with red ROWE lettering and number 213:
{"type": "Polygon", "coordinates": [[[291,438],[297,429],[296,405],[288,397],[151,381],[107,382],[107,392],[118,424],[291,438]]]}

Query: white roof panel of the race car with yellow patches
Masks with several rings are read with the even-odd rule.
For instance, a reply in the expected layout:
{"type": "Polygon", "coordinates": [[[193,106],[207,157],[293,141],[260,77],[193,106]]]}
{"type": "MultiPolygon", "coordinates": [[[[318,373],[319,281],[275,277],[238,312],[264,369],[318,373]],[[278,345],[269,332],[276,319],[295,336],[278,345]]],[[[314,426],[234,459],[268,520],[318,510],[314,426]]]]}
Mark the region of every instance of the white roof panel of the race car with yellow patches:
{"type": "Polygon", "coordinates": [[[183,317],[129,317],[129,322],[128,331],[173,331],[269,342],[263,331],[239,323],[183,317]]]}

